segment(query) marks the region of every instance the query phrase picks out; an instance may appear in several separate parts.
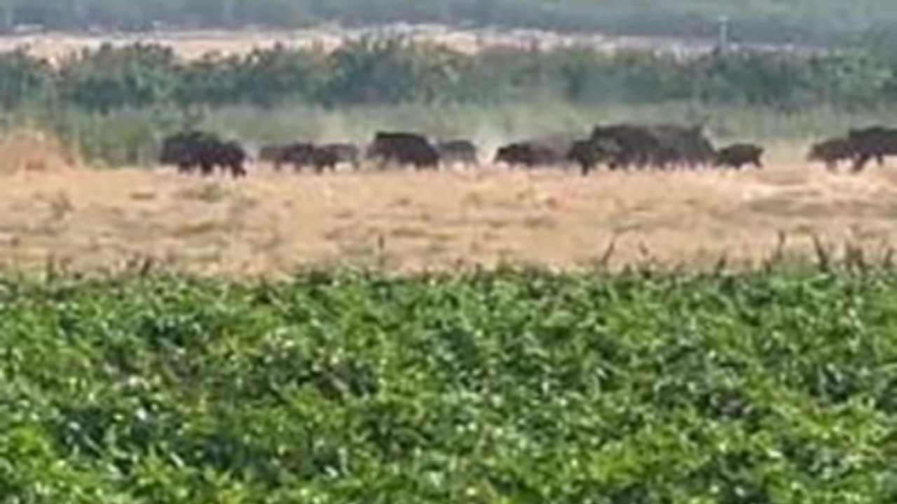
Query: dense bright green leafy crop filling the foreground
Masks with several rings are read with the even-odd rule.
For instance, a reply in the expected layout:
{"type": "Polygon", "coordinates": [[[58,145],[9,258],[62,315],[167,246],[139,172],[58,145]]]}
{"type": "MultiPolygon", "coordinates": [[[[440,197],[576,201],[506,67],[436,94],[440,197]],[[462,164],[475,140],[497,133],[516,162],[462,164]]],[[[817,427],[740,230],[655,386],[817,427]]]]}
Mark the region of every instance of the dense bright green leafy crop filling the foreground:
{"type": "Polygon", "coordinates": [[[0,283],[0,500],[885,504],[897,276],[0,283]]]}

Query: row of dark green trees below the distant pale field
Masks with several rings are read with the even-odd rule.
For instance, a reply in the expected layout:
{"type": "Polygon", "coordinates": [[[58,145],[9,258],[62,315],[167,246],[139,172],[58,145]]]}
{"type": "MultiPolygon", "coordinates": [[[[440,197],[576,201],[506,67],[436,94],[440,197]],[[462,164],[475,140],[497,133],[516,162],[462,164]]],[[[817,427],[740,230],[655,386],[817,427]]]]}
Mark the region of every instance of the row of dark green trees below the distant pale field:
{"type": "Polygon", "coordinates": [[[588,49],[490,50],[470,56],[399,40],[362,40],[332,53],[283,47],[180,60],[170,48],[103,46],[51,65],[0,55],[0,107],[74,107],[106,114],[173,106],[339,108],[563,100],[869,109],[897,99],[897,64],[858,52],[759,52],[691,59],[588,49]]]}

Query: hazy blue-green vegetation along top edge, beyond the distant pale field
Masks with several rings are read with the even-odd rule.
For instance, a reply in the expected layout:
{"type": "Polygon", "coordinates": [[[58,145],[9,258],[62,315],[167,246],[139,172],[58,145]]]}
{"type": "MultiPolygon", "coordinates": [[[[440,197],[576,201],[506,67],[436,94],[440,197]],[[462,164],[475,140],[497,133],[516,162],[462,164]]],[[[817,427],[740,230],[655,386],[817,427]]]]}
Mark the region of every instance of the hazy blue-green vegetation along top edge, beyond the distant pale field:
{"type": "Polygon", "coordinates": [[[737,39],[824,45],[893,41],[897,16],[890,0],[2,0],[0,13],[7,28],[442,22],[683,37],[714,36],[726,14],[737,39]]]}

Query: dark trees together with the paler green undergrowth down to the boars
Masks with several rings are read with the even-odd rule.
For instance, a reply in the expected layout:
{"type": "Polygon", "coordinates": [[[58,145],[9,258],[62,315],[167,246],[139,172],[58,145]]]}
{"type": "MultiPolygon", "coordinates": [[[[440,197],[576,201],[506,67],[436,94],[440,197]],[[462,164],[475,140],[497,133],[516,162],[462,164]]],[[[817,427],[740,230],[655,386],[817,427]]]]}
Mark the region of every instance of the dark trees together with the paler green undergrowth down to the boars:
{"type": "Polygon", "coordinates": [[[722,135],[779,137],[780,128],[764,125],[782,117],[802,124],[801,135],[834,133],[858,116],[865,121],[894,109],[897,62],[862,52],[685,60],[585,49],[468,56],[397,40],[361,41],[331,54],[271,48],[185,62],[168,48],[131,46],[87,51],[60,65],[22,52],[0,55],[0,91],[13,125],[22,117],[37,121],[91,160],[121,165],[151,160],[163,135],[188,126],[257,142],[358,141],[382,127],[486,141],[587,131],[598,120],[645,118],[636,109],[654,107],[667,112],[653,118],[718,126],[714,133],[722,135]],[[529,111],[526,128],[501,116],[509,107],[529,111]],[[763,119],[733,126],[746,122],[743,110],[763,119]],[[828,119],[816,117],[818,110],[828,119]],[[318,120],[333,116],[351,120],[318,120]]]}

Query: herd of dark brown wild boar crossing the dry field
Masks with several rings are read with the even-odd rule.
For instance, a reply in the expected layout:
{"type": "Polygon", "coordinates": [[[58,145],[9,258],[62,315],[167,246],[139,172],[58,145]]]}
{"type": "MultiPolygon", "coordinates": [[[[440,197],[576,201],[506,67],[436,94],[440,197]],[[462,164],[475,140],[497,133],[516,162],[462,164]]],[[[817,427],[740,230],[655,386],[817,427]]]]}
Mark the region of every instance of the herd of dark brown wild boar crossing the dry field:
{"type": "MultiPolygon", "coordinates": [[[[815,143],[807,159],[822,162],[828,169],[847,161],[858,172],[869,161],[884,164],[884,158],[892,155],[897,155],[897,128],[871,126],[815,143]]],[[[762,168],[762,157],[763,148],[753,143],[715,148],[700,126],[619,124],[596,126],[588,138],[579,140],[546,138],[509,143],[495,152],[493,162],[527,169],[576,166],[582,175],[588,175],[601,166],[611,170],[762,168]]],[[[213,175],[217,170],[242,178],[248,175],[249,159],[238,142],[190,131],[166,138],[159,161],[177,166],[181,173],[213,175]]],[[[287,165],[296,171],[312,169],[316,173],[340,165],[360,169],[361,161],[377,169],[439,169],[477,166],[480,152],[469,140],[431,142],[414,133],[380,132],[363,151],[352,143],[290,143],[262,147],[257,160],[272,164],[276,170],[287,165]]]]}

